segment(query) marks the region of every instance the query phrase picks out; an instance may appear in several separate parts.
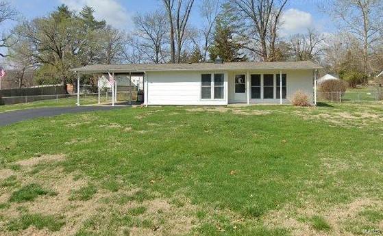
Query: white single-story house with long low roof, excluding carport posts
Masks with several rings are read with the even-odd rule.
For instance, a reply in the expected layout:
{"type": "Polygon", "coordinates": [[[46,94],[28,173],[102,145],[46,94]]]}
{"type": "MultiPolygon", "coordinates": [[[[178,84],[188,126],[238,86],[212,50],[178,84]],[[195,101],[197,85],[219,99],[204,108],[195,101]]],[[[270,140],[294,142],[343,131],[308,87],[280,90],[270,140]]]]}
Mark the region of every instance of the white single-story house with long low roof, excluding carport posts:
{"type": "Polygon", "coordinates": [[[321,66],[306,61],[92,65],[73,71],[109,72],[117,80],[143,73],[145,105],[227,105],[289,103],[298,90],[313,101],[314,71],[319,69],[321,66]]]}

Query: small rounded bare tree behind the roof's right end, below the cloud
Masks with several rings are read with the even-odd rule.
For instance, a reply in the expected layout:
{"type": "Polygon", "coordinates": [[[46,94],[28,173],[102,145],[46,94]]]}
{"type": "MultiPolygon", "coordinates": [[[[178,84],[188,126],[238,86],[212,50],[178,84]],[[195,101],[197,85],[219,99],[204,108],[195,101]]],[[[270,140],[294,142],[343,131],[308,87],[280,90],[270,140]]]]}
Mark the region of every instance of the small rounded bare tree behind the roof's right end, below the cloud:
{"type": "Polygon", "coordinates": [[[295,60],[319,60],[323,53],[324,38],[315,29],[308,29],[306,34],[295,34],[290,38],[291,51],[295,60]]]}

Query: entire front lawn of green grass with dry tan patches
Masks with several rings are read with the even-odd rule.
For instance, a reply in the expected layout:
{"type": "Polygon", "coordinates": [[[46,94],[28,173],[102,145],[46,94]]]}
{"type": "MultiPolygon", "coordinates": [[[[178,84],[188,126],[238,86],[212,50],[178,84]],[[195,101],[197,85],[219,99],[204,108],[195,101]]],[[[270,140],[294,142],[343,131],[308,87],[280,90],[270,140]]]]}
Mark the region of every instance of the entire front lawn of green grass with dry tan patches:
{"type": "Polygon", "coordinates": [[[136,107],[0,127],[0,235],[379,233],[382,122],[382,105],[136,107]],[[55,194],[12,200],[32,184],[55,194]]]}

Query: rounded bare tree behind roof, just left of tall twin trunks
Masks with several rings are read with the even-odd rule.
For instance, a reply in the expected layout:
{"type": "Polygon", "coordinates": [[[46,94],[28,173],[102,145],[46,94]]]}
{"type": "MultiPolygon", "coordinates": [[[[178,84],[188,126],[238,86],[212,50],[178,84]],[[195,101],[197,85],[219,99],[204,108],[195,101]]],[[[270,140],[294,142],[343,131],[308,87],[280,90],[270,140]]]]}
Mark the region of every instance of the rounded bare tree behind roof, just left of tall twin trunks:
{"type": "Polygon", "coordinates": [[[138,37],[138,50],[142,51],[151,62],[165,62],[164,47],[169,24],[166,14],[160,11],[134,18],[136,36],[138,37]]]}

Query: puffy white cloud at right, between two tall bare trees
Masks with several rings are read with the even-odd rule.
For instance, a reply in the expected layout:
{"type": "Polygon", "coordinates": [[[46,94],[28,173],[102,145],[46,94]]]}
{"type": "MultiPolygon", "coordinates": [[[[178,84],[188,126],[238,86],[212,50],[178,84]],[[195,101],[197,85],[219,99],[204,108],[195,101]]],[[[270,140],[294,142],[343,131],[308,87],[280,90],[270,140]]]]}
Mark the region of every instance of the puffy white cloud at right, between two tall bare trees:
{"type": "Polygon", "coordinates": [[[281,36],[290,36],[306,31],[313,27],[312,15],[309,12],[304,12],[291,8],[286,10],[282,15],[281,36]]]}

